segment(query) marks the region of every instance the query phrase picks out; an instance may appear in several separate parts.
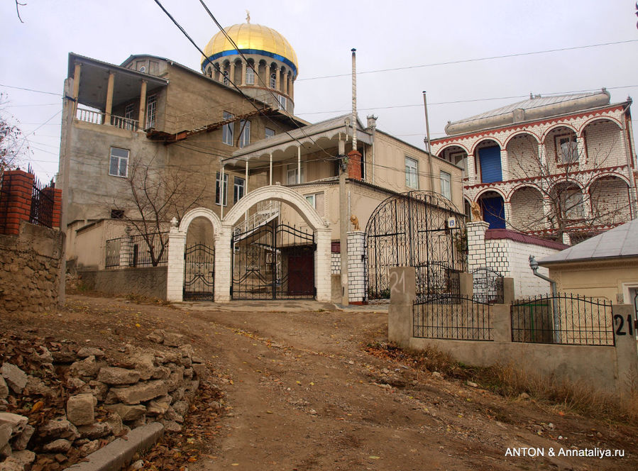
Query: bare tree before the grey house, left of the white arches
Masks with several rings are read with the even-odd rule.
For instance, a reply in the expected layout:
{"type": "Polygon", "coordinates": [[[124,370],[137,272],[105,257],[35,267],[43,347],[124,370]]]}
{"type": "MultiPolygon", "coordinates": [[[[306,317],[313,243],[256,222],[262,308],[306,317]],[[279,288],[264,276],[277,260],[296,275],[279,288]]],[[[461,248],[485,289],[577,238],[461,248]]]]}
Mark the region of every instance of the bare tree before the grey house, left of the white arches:
{"type": "Polygon", "coordinates": [[[171,218],[202,206],[207,187],[205,176],[174,166],[155,166],[140,161],[128,165],[122,192],[114,200],[119,216],[132,226],[145,243],[151,265],[158,265],[167,250],[162,234],[171,218]]]}

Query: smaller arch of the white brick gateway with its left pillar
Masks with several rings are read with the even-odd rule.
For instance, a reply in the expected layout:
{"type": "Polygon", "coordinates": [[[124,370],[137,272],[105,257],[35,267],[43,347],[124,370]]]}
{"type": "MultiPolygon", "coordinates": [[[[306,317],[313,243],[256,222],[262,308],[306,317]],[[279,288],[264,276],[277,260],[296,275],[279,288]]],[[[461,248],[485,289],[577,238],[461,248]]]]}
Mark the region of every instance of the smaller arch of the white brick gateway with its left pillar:
{"type": "Polygon", "coordinates": [[[177,226],[177,219],[173,218],[168,234],[168,272],[166,284],[166,297],[168,301],[181,302],[184,299],[184,253],[186,236],[190,224],[196,218],[204,218],[211,223],[214,233],[214,245],[215,247],[217,246],[217,241],[219,240],[218,235],[222,231],[222,226],[219,216],[214,214],[210,209],[196,208],[188,211],[182,218],[179,227],[177,226]]]}

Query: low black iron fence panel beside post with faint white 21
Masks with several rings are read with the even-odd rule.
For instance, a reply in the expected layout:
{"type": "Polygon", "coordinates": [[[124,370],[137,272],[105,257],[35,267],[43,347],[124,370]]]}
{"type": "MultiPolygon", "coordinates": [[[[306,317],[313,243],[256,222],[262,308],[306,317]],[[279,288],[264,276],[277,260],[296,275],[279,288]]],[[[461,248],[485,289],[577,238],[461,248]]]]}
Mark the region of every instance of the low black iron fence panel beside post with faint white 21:
{"type": "Polygon", "coordinates": [[[413,336],[448,340],[493,340],[490,304],[445,296],[412,307],[413,336]]]}

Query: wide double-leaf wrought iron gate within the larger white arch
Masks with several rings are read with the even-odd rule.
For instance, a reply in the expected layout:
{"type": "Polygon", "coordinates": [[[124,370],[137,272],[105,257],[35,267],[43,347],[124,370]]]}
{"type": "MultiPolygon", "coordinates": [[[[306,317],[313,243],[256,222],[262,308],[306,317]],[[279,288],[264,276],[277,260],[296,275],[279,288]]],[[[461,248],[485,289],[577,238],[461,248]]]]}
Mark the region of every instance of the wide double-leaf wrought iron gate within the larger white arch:
{"type": "Polygon", "coordinates": [[[233,236],[233,299],[312,299],[314,233],[270,221],[233,236]]]}

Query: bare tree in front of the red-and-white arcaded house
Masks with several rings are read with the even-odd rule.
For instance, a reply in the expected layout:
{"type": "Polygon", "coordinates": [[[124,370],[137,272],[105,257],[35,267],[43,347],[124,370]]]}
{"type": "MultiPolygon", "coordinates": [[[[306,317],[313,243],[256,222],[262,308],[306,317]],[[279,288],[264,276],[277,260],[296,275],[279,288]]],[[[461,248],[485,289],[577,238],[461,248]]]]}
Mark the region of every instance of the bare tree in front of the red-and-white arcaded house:
{"type": "Polygon", "coordinates": [[[528,187],[510,199],[512,227],[543,231],[558,240],[567,233],[575,241],[595,235],[597,227],[629,220],[633,195],[627,184],[611,172],[605,177],[606,168],[622,165],[616,160],[619,138],[620,133],[605,145],[587,149],[573,138],[556,138],[543,159],[531,140],[529,148],[508,152],[512,177],[528,187]]]}

